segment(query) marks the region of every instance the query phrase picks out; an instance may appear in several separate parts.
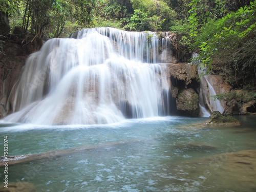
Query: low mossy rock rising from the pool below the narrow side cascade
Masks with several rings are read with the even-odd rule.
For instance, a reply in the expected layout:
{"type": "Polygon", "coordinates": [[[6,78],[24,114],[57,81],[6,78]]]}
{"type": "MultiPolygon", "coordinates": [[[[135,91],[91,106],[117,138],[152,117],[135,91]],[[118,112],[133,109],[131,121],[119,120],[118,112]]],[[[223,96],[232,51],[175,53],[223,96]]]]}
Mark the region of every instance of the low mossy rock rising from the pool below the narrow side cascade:
{"type": "Polygon", "coordinates": [[[210,125],[240,125],[240,121],[230,115],[222,115],[219,111],[214,111],[209,119],[204,122],[210,125]]]}

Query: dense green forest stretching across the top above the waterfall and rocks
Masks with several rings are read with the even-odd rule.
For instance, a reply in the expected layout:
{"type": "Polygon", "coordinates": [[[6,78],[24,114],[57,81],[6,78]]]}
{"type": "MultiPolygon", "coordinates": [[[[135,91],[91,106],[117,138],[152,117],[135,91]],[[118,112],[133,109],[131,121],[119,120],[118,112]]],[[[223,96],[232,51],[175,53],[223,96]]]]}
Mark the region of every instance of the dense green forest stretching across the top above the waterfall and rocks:
{"type": "MultiPolygon", "coordinates": [[[[68,37],[91,27],[172,31],[174,47],[207,73],[222,75],[233,89],[256,87],[256,1],[249,0],[2,0],[0,52],[5,41],[32,43],[68,37]],[[191,59],[192,53],[198,53],[191,59]]],[[[221,95],[222,99],[240,95],[221,95]]]]}

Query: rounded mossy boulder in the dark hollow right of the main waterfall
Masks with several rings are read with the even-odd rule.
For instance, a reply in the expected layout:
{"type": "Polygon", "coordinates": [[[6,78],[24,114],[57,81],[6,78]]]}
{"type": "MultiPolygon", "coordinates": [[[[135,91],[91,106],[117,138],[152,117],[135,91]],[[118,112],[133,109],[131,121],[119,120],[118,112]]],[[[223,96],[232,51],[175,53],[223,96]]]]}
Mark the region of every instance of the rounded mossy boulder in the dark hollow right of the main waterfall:
{"type": "Polygon", "coordinates": [[[196,117],[199,115],[199,96],[195,90],[189,88],[181,91],[176,99],[177,110],[183,115],[196,117]]]}

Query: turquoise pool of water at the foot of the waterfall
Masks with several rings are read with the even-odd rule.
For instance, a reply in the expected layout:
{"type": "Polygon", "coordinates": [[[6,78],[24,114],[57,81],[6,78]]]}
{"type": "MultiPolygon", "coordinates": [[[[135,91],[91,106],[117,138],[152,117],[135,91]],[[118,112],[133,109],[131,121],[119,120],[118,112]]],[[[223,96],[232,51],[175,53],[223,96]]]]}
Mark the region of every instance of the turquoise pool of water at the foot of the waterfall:
{"type": "MultiPolygon", "coordinates": [[[[255,191],[254,169],[237,177],[224,166],[206,173],[215,161],[211,155],[256,150],[255,117],[237,118],[242,125],[236,127],[201,125],[205,117],[72,126],[1,121],[0,156],[4,136],[8,155],[74,148],[70,154],[9,165],[9,183],[29,182],[38,191],[255,191]],[[76,151],[82,146],[89,148],[76,151]]],[[[221,167],[228,158],[218,163],[221,167]]]]}

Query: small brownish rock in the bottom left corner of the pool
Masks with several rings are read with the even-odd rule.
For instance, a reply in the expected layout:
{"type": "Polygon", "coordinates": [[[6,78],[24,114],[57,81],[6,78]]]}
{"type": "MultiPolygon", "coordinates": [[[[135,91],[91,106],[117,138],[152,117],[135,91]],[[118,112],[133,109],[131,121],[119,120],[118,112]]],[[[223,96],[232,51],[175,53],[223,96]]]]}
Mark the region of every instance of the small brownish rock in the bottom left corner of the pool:
{"type": "Polygon", "coordinates": [[[9,183],[8,188],[0,187],[0,192],[35,192],[36,187],[28,182],[9,183]]]}

